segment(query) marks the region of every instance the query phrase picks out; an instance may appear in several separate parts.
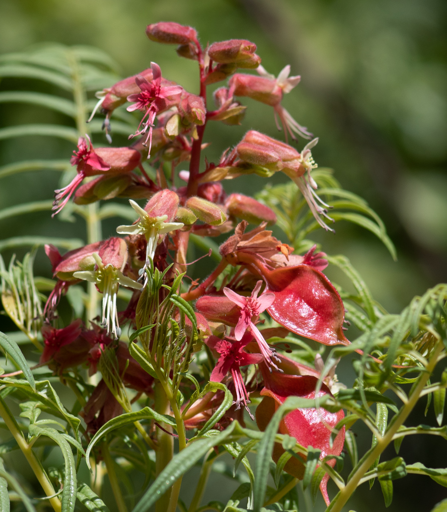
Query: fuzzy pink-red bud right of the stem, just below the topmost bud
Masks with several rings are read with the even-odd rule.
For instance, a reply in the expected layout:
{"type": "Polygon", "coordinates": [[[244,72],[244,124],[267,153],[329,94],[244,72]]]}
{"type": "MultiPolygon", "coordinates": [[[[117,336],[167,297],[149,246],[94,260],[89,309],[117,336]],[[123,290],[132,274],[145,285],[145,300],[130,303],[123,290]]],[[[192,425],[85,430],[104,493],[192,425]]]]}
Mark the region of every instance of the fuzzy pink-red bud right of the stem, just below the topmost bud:
{"type": "Polygon", "coordinates": [[[261,58],[256,55],[256,45],[246,39],[230,39],[214,42],[208,49],[208,55],[221,64],[237,63],[239,68],[257,68],[261,58]]]}

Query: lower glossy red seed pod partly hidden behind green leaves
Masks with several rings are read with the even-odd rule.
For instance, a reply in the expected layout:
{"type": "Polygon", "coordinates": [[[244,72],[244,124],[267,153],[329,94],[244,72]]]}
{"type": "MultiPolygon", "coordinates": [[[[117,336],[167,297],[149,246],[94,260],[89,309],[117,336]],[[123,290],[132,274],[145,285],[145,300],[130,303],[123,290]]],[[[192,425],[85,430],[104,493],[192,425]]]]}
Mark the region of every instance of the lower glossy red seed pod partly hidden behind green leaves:
{"type": "MultiPolygon", "coordinates": [[[[299,396],[313,399],[316,396],[320,397],[331,394],[325,384],[321,385],[320,391],[316,394],[315,389],[318,379],[311,375],[285,375],[275,371],[270,374],[266,368],[261,368],[261,371],[264,377],[265,388],[261,391],[261,395],[264,398],[256,409],[256,421],[259,429],[262,431],[266,429],[274,412],[284,403],[287,397],[299,396]]],[[[337,434],[332,445],[330,443],[330,436],[334,426],[344,416],[341,410],[337,413],[330,413],[323,408],[295,409],[286,414],[281,420],[279,432],[294,437],[304,447],[313,446],[321,450],[321,459],[327,455],[340,455],[345,441],[345,427],[337,434]]],[[[282,445],[275,443],[272,454],[273,460],[278,462],[283,453],[282,445]]],[[[327,461],[327,464],[333,467],[335,460],[331,459],[327,461]]],[[[304,465],[294,457],[286,463],[284,470],[296,478],[302,479],[304,477],[304,465]]],[[[330,503],[327,492],[328,479],[329,475],[326,474],[320,484],[320,490],[327,505],[330,503]]]]}

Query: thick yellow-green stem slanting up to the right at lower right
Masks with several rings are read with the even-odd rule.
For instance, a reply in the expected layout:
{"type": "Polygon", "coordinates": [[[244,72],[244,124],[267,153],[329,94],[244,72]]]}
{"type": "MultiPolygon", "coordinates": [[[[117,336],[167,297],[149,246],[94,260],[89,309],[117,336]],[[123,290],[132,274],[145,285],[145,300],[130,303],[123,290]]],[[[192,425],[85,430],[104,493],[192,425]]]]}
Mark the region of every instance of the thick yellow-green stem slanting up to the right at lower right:
{"type": "Polygon", "coordinates": [[[374,449],[372,449],[369,455],[365,457],[364,461],[357,468],[357,470],[349,479],[345,487],[341,489],[340,492],[332,500],[330,508],[331,512],[340,512],[342,510],[342,508],[353,494],[354,490],[356,489],[357,485],[359,484],[360,480],[363,478],[365,473],[369,471],[369,468],[372,466],[377,457],[382,452],[384,452],[386,447],[391,443],[394,435],[399,430],[399,427],[403,424],[403,422],[408,418],[410,413],[413,411],[417,401],[420,398],[422,390],[424,389],[425,385],[427,384],[427,381],[429,380],[430,376],[433,373],[433,370],[435,369],[435,366],[438,362],[438,356],[443,348],[444,345],[442,341],[438,340],[438,343],[432,352],[430,361],[425,367],[427,371],[420,376],[419,382],[417,383],[417,386],[411,393],[407,403],[403,405],[399,413],[393,418],[393,421],[390,424],[390,428],[385,433],[384,437],[378,439],[374,449]]]}

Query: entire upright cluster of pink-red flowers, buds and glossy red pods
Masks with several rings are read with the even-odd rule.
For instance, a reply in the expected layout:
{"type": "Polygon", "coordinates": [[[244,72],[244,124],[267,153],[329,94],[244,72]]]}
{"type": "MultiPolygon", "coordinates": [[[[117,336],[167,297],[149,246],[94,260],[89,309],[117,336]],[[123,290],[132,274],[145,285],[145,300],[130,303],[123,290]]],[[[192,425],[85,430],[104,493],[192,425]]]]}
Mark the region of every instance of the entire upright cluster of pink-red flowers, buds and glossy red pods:
{"type": "MultiPolygon", "coordinates": [[[[154,62],[150,69],[97,93],[99,102],[92,116],[97,109],[105,114],[108,139],[111,115],[126,102],[130,103],[127,111],[142,113],[136,132],[129,135],[137,139],[130,147],[94,147],[87,135],[81,137],[71,158],[76,176],[56,190],[54,214],[73,195],[77,204],[127,198],[135,221],[117,227],[121,237],[96,241],[64,255],[47,246],[57,282],[45,307],[45,350],[40,363],[59,372],[79,365],[88,367],[90,375],[101,370],[103,380],[82,413],[92,433],[127,407],[122,387],[151,398],[154,375],[167,376],[164,385],[175,387],[193,353],[201,351],[207,355],[201,384],[222,382],[233,394],[232,406],[216,420],[215,428],[222,429],[233,419],[243,423],[244,410],[254,421],[249,408],[253,395],[262,397],[256,421],[265,430],[286,397],[331,394],[326,383],[318,387],[318,369],[288,359],[269,339],[299,335],[326,346],[350,343],[344,334],[344,305],[323,273],[328,264],[325,253],[315,252],[313,246],[305,254],[294,254],[293,247],[267,229],[276,222],[271,208],[240,193],[227,195],[222,185],[224,179],[246,174],[268,177],[283,172],[297,185],[318,224],[329,229],[323,220],[331,220],[328,205],[317,196],[312,177],[316,164],[311,149],[317,139],[301,152],[287,144],[287,135],[310,138],[307,129],[281,105],[283,95],[297,86],[300,77],[289,77],[289,66],[278,78],[268,74],[260,65],[256,45],[247,40],[215,42],[203,49],[194,29],[176,23],[150,25],[146,34],[154,41],[178,45],[180,56],[198,61],[200,94],[164,78],[154,62]],[[235,73],[240,68],[257,70],[259,75],[235,73]],[[209,110],[206,87],[227,78],[227,87],[215,91],[216,110],[209,110]],[[271,105],[286,142],[250,130],[218,163],[205,161],[201,170],[207,122],[232,125],[242,121],[245,106],[236,96],[271,105]],[[189,162],[188,170],[180,169],[183,162],[189,162]],[[82,183],[86,178],[93,179],[82,183]],[[185,185],[178,186],[179,180],[185,185]],[[208,237],[226,237],[219,253],[215,251],[216,267],[207,277],[191,279],[189,289],[182,287],[181,280],[187,278],[188,265],[193,263],[189,242],[199,240],[203,247],[208,237]],[[82,281],[93,283],[101,294],[101,314],[96,320],[89,318],[90,324],[78,319],[58,328],[60,298],[82,281]],[[161,283],[158,288],[156,283],[161,283]],[[121,287],[132,290],[127,305],[120,303],[121,287]],[[171,313],[166,316],[166,311],[171,313]],[[270,327],[264,329],[266,321],[270,327]],[[137,336],[142,347],[138,349],[137,336]],[[123,339],[130,339],[129,348],[123,339]],[[174,343],[178,346],[172,349],[174,343]],[[113,368],[107,370],[107,365],[113,368]]],[[[321,361],[317,366],[321,370],[321,361]]],[[[197,382],[196,377],[193,380],[197,382]]],[[[182,384],[182,392],[191,396],[188,382],[182,384]]],[[[199,428],[209,421],[223,399],[222,388],[216,388],[183,406],[185,428],[199,428]]],[[[280,433],[321,450],[321,458],[339,455],[344,430],[333,442],[330,435],[343,412],[306,411],[285,416],[280,433]]],[[[275,446],[275,461],[282,451],[280,445],[275,446]]],[[[297,478],[303,478],[303,468],[297,461],[285,465],[285,471],[297,478]]],[[[321,484],[326,501],[327,478],[321,484]]]]}

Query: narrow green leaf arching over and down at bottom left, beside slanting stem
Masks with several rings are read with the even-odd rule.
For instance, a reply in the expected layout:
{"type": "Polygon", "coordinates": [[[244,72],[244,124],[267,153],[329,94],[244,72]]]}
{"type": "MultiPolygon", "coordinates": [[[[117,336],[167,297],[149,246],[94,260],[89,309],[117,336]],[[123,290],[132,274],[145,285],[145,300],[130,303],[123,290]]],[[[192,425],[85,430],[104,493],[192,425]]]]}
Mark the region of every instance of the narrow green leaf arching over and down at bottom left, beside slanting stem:
{"type": "Polygon", "coordinates": [[[76,503],[77,488],[76,464],[67,439],[55,429],[42,429],[40,426],[36,425],[30,425],[29,432],[32,436],[47,436],[59,445],[65,460],[65,477],[63,479],[61,500],[62,512],[73,512],[76,503]]]}

